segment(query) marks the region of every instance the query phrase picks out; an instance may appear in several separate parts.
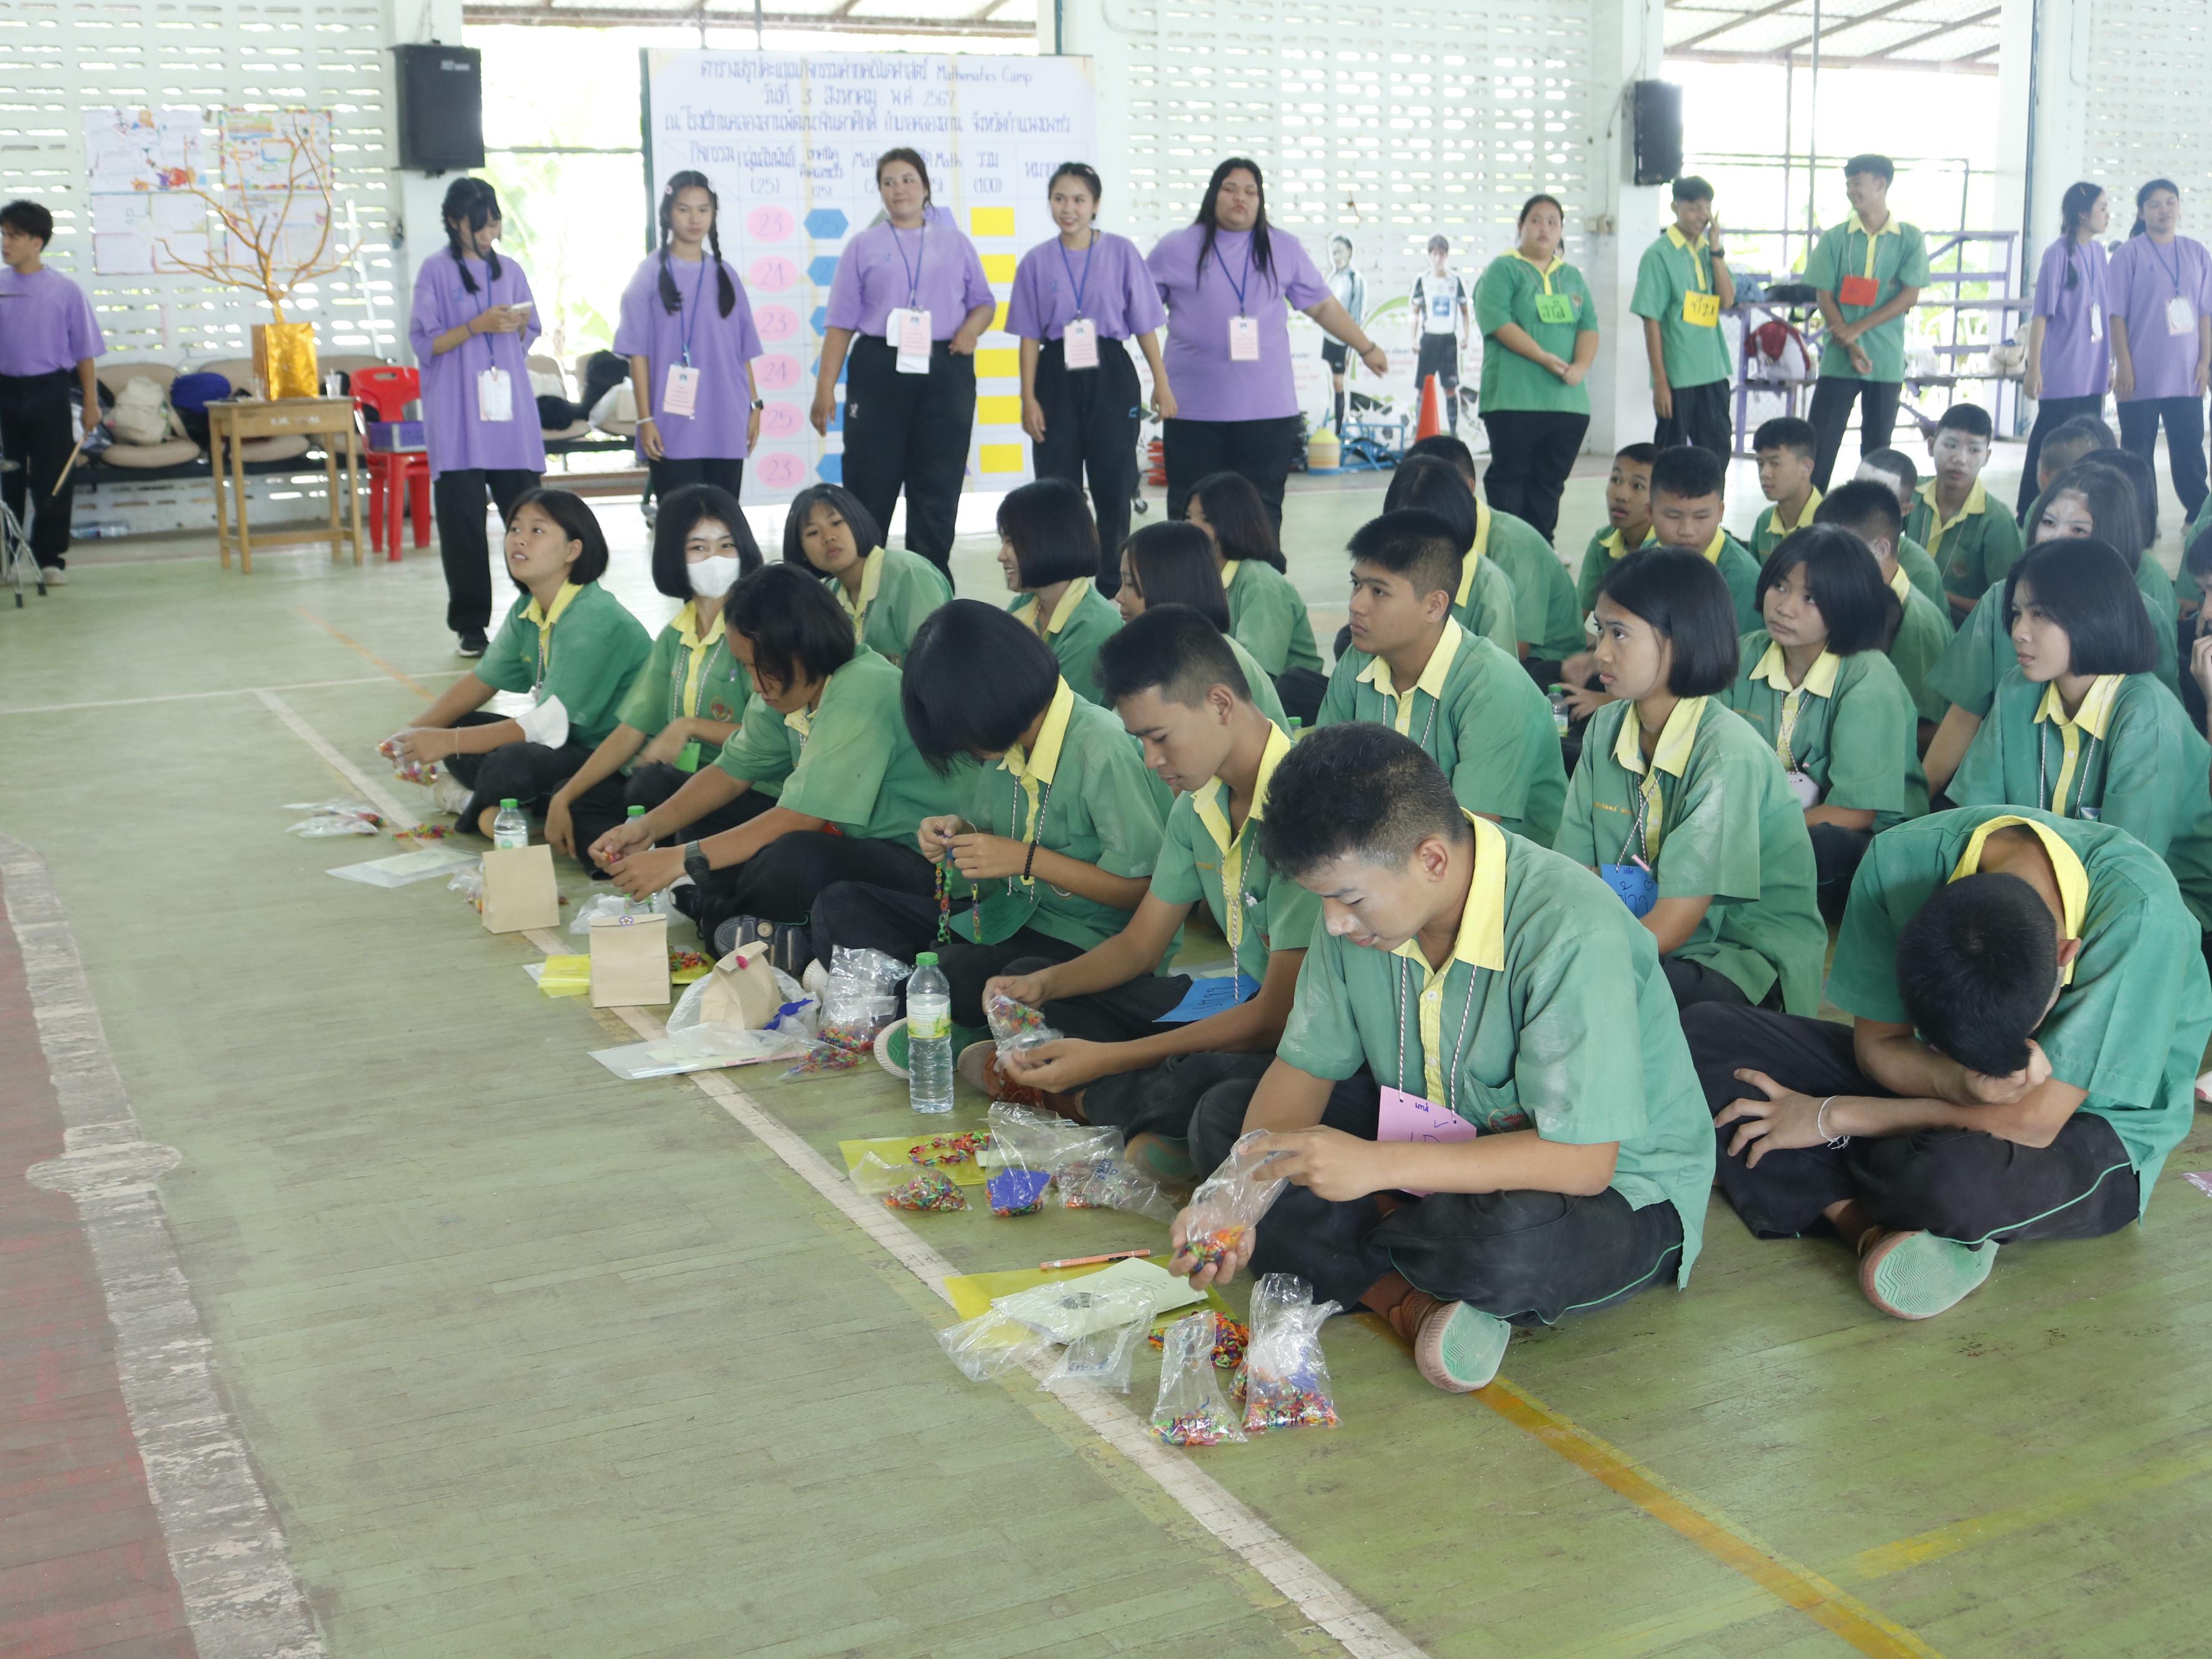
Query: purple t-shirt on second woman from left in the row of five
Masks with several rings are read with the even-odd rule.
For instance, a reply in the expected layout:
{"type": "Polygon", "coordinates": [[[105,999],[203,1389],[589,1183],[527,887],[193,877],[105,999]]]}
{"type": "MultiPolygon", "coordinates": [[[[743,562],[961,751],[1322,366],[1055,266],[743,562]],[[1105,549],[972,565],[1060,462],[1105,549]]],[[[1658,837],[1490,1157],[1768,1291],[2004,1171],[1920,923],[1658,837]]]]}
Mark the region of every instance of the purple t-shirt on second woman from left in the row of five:
{"type": "MultiPolygon", "coordinates": [[[[615,354],[646,358],[646,387],[653,394],[653,425],[661,429],[661,451],[670,460],[743,460],[745,422],[752,416],[752,394],[745,389],[745,365],[761,354],[761,334],[752,325],[752,301],[745,283],[730,272],[737,305],[721,314],[721,283],[706,259],[668,254],[668,272],[677,279],[684,310],[661,303],[661,257],[650,254],[622,290],[622,319],[615,323],[615,354]],[[668,414],[668,365],[686,361],[699,369],[697,400],[688,416],[668,414]]],[[[644,447],[637,451],[646,453],[644,447]]]]}

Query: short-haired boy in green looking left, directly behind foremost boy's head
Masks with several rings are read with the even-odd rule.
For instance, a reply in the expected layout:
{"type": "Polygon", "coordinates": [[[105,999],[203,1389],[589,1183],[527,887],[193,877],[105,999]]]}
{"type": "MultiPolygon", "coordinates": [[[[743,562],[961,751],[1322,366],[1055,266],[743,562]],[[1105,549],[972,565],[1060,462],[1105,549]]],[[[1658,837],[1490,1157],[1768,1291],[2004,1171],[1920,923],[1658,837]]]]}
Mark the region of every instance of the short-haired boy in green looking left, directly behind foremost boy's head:
{"type": "Polygon", "coordinates": [[[1517,661],[1453,622],[1451,526],[1422,511],[1383,513],[1349,551],[1352,650],[1314,726],[1376,721],[1411,737],[1462,807],[1548,847],[1566,801],[1551,701],[1517,661]]]}

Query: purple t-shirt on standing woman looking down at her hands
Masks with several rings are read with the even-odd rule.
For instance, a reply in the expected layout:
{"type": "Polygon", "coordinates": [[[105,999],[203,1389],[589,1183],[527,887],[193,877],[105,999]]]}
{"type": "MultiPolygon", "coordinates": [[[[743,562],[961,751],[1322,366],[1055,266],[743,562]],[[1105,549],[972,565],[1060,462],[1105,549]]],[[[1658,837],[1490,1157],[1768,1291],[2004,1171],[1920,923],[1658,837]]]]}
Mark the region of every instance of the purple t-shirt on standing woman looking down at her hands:
{"type": "Polygon", "coordinates": [[[531,341],[538,338],[538,312],[513,334],[476,334],[451,352],[434,354],[431,341],[449,327],[460,327],[493,305],[520,305],[531,299],[531,283],[507,254],[500,254],[500,279],[491,281],[482,259],[469,261],[476,292],[460,285],[453,254],[440,252],[416,272],[414,316],[407,338],[422,365],[422,440],[429,445],[429,473],[526,471],[546,469],[546,440],[538,429],[538,398],[531,396],[531,341]],[[507,369],[509,420],[478,420],[476,376],[489,367],[507,369]]]}

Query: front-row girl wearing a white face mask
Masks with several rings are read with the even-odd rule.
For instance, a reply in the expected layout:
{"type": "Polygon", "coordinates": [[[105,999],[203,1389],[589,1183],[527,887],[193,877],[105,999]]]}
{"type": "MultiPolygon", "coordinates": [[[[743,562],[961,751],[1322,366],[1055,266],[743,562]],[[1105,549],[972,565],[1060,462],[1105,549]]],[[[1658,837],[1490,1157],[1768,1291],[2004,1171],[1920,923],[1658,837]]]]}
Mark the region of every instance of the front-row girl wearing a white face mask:
{"type": "MultiPolygon", "coordinates": [[[[761,549],[730,491],[688,484],[661,502],[653,522],[653,586],[684,604],[630,681],[615,730],[553,792],[546,841],[555,852],[582,856],[630,807],[657,807],[701,761],[712,761],[745,719],[752,679],[723,639],[721,595],[759,568],[761,549]]],[[[772,787],[768,794],[750,790],[710,812],[701,834],[732,830],[772,799],[772,787]]]]}

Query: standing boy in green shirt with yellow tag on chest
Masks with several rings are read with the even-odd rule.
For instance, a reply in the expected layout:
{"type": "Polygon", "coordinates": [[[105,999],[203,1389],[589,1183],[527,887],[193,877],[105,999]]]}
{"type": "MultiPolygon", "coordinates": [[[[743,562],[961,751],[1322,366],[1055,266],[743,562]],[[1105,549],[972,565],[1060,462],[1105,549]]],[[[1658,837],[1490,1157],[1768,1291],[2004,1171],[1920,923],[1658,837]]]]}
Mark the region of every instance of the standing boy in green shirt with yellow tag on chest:
{"type": "Polygon", "coordinates": [[[1628,310],[1644,319],[1644,356],[1650,363],[1652,442],[1697,445],[1728,456],[1736,422],[1728,409],[1728,341],[1721,312],[1736,303],[1736,279],[1721,252],[1721,223],[1712,186],[1699,177],[1674,179],[1674,223],[1637,263],[1637,292],[1628,310]]]}

